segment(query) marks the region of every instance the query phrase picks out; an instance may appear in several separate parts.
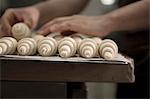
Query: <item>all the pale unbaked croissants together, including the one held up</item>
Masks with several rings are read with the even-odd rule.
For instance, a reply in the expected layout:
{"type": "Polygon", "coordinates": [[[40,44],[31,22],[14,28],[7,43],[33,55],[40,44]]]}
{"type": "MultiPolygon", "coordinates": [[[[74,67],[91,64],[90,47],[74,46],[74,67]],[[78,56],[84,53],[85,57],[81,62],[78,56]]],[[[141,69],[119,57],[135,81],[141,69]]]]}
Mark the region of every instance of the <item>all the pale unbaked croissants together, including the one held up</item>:
{"type": "Polygon", "coordinates": [[[68,58],[76,54],[84,58],[103,57],[113,59],[118,54],[117,44],[110,39],[101,40],[99,37],[88,37],[83,34],[62,36],[60,33],[51,33],[44,37],[33,35],[23,23],[12,27],[13,37],[0,39],[0,55],[17,54],[41,56],[59,56],[68,58]]]}

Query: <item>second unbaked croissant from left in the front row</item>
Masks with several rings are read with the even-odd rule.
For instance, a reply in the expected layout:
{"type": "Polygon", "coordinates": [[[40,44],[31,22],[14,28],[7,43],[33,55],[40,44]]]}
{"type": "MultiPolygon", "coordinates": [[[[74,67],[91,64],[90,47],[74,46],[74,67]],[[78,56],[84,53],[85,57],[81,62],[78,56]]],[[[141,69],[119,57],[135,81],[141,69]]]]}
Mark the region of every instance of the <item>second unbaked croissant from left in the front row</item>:
{"type": "Polygon", "coordinates": [[[20,55],[34,55],[37,50],[37,43],[33,38],[23,38],[19,40],[17,50],[20,55]]]}

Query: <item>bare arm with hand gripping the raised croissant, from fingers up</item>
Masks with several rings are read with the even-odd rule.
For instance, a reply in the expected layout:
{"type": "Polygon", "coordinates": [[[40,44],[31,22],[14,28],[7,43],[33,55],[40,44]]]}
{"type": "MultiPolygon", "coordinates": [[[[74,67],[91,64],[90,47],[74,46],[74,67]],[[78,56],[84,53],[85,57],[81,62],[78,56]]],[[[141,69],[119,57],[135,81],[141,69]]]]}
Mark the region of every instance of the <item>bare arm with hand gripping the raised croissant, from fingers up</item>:
{"type": "Polygon", "coordinates": [[[78,13],[88,0],[46,0],[39,4],[7,9],[2,16],[0,37],[11,36],[11,27],[17,22],[24,22],[31,29],[38,22],[44,23],[58,16],[78,13]]]}

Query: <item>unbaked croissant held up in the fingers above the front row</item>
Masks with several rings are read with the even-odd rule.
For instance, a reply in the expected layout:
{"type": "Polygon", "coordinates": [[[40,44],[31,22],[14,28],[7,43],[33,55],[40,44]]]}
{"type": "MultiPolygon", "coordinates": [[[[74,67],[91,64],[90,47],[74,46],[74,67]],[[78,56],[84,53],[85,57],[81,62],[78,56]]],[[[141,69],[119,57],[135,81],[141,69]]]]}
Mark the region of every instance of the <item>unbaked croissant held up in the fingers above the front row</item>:
{"type": "Polygon", "coordinates": [[[31,37],[31,31],[25,23],[16,23],[12,27],[12,35],[17,40],[31,37]]]}

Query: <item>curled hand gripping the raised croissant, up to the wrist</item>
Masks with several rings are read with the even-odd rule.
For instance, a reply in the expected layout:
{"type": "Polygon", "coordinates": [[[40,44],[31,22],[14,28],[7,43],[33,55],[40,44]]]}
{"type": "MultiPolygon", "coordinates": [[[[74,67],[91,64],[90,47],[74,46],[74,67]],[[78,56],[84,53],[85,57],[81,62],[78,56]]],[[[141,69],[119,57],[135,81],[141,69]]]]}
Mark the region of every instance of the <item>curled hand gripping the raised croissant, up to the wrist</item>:
{"type": "Polygon", "coordinates": [[[1,19],[0,37],[12,36],[11,27],[17,22],[24,22],[30,29],[35,28],[39,15],[39,11],[33,7],[6,10],[1,19]]]}

